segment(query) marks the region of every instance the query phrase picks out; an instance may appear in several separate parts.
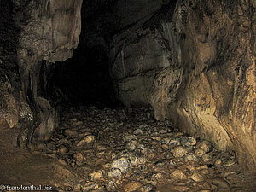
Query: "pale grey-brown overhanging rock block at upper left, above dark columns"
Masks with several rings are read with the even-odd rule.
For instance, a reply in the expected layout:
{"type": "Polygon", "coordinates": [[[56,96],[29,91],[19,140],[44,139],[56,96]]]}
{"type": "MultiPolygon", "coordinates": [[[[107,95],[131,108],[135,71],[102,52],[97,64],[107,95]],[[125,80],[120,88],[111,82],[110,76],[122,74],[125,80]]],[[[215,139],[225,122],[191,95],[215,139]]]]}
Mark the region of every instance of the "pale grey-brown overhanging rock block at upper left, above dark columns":
{"type": "Polygon", "coordinates": [[[30,57],[27,55],[29,49],[36,50],[38,56],[50,62],[65,61],[72,56],[73,48],[79,43],[81,5],[80,0],[68,3],[63,0],[50,3],[39,1],[38,8],[33,10],[32,20],[22,27],[20,59],[30,57]],[[49,4],[50,9],[44,9],[45,4],[49,4]],[[39,10],[41,15],[37,14],[39,10]],[[67,32],[67,35],[63,32],[67,32]],[[49,36],[49,33],[53,35],[49,36]]]}

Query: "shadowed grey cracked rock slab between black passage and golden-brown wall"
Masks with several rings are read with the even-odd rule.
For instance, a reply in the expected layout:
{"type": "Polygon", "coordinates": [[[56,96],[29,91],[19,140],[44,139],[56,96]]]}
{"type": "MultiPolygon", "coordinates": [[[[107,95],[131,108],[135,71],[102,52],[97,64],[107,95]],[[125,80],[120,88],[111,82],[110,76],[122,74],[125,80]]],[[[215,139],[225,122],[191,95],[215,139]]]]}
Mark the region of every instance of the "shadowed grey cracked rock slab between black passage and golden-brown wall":
{"type": "MultiPolygon", "coordinates": [[[[143,19],[133,20],[133,25],[115,35],[111,44],[110,71],[117,95],[126,106],[154,105],[163,97],[165,102],[173,100],[183,76],[178,67],[179,38],[172,22],[175,3],[158,2],[154,9],[151,6],[146,9],[148,13],[138,17],[143,19]],[[174,91],[168,95],[171,87],[174,91]]],[[[165,103],[159,108],[165,108],[165,103]]]]}

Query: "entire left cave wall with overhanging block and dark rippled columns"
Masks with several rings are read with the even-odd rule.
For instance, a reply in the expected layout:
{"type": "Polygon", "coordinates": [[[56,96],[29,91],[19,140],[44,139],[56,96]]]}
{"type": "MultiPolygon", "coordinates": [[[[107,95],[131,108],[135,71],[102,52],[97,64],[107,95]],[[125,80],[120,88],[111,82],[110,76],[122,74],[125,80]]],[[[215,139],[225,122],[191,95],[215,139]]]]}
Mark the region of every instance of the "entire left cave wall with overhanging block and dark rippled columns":
{"type": "Polygon", "coordinates": [[[32,136],[48,139],[54,129],[55,109],[43,94],[49,78],[45,66],[73,55],[79,43],[81,5],[82,0],[16,0],[1,6],[7,13],[0,29],[0,129],[15,130],[19,143],[31,143],[32,136]]]}

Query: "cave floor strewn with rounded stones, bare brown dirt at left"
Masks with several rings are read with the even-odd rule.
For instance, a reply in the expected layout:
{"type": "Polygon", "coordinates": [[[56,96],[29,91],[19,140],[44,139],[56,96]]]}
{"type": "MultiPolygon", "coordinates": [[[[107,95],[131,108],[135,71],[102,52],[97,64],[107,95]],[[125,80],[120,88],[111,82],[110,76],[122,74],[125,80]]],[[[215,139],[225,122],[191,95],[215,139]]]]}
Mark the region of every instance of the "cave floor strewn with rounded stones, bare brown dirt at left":
{"type": "Polygon", "coordinates": [[[1,183],[55,191],[256,191],[256,176],[241,172],[234,154],[154,120],[148,108],[60,112],[48,143],[31,153],[1,149],[1,183]]]}

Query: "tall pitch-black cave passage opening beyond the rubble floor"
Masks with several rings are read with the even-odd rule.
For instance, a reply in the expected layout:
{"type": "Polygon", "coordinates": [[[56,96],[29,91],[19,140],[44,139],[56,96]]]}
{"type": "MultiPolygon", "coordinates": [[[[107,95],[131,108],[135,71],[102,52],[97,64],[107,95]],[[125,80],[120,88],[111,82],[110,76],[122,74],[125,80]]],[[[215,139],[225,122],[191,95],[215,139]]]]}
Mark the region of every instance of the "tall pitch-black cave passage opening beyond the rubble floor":
{"type": "Polygon", "coordinates": [[[54,100],[72,105],[118,107],[109,72],[109,44],[119,28],[115,1],[84,1],[79,46],[67,61],[56,61],[51,79],[54,100]],[[57,90],[57,91],[56,91],[57,90]]]}

